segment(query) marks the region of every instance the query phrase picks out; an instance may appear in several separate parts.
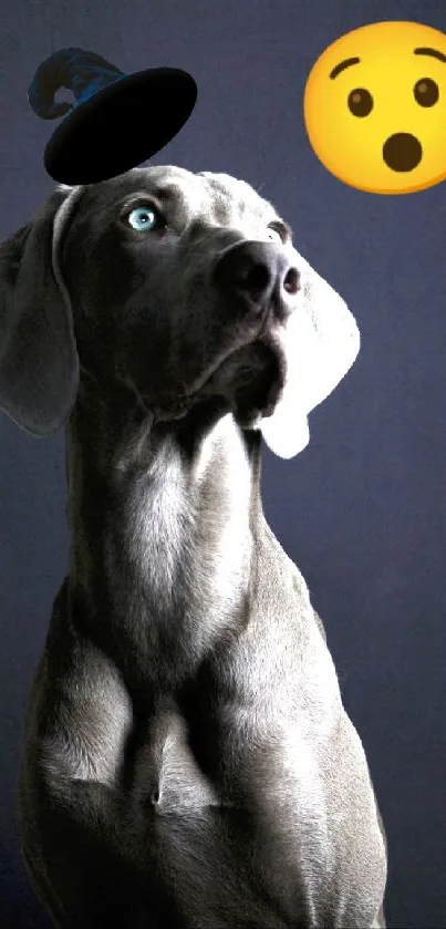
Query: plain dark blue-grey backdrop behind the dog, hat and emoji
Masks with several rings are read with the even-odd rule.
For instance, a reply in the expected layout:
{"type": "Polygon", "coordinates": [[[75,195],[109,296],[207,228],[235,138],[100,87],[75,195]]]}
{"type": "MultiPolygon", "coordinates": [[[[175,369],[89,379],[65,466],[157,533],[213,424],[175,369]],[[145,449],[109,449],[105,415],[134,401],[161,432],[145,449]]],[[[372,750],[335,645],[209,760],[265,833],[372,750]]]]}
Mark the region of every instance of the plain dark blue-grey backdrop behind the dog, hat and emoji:
{"type": "MultiPolygon", "coordinates": [[[[309,582],[370,758],[390,843],[388,923],[444,927],[446,185],[403,197],[348,188],[318,162],[302,121],[319,54],[382,19],[446,31],[446,3],[2,0],[0,235],[51,189],[42,153],[55,124],[29,110],[28,83],[51,52],[80,45],[123,71],[191,71],[195,115],[156,161],[261,187],[348,300],[360,359],[312,415],[299,458],[265,453],[265,506],[309,582]]],[[[44,929],[21,864],[14,782],[66,565],[63,436],[32,440],[0,416],[0,922],[44,929]]]]}

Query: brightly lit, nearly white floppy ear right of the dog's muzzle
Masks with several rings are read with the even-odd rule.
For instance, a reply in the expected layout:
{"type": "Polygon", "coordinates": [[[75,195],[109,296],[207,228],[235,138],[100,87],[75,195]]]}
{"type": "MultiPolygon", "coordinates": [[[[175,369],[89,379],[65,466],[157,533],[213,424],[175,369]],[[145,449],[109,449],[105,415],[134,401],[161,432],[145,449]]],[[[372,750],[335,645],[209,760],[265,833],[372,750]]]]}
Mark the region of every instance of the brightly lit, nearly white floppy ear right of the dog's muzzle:
{"type": "Polygon", "coordinates": [[[267,445],[282,458],[308,445],[309,413],[338,386],[360,350],[357,326],[342,297],[301,256],[298,267],[299,307],[281,333],[286,383],[272,416],[259,423],[267,445]]]}

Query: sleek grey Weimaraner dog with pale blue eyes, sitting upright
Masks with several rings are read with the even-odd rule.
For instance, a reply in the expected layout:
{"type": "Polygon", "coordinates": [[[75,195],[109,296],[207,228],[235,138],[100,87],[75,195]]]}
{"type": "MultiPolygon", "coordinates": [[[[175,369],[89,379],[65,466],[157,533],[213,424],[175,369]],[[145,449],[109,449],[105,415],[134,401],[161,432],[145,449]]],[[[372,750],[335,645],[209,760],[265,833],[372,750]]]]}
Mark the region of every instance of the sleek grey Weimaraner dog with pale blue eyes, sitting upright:
{"type": "Polygon", "coordinates": [[[58,187],[0,295],[1,407],[68,438],[19,783],[54,923],[384,926],[366,758],[259,487],[354,362],[345,303],[251,187],[175,167],[58,187]]]}

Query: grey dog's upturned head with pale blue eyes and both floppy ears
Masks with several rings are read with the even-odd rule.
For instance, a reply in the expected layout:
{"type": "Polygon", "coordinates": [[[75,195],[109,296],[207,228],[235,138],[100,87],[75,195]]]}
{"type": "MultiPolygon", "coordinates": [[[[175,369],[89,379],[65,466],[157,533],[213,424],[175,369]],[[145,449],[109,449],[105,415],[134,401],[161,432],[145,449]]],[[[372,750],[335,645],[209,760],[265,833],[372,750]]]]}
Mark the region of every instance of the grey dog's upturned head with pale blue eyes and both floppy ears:
{"type": "Polygon", "coordinates": [[[59,187],[1,246],[0,307],[0,405],[34,435],[69,417],[81,369],[157,421],[224,398],[290,457],[360,343],[269,203],[174,167],[59,187]]]}

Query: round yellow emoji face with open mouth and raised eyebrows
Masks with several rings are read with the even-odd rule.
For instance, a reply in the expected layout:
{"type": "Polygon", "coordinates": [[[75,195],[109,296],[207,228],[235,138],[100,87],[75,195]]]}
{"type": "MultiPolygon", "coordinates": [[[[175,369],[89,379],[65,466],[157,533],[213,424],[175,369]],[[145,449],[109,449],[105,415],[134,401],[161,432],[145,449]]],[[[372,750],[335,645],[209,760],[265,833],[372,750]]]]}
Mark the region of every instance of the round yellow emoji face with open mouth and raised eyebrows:
{"type": "Polygon", "coordinates": [[[411,194],[446,177],[446,35],[376,22],[318,59],[303,115],[324,167],[372,194],[411,194]]]}

